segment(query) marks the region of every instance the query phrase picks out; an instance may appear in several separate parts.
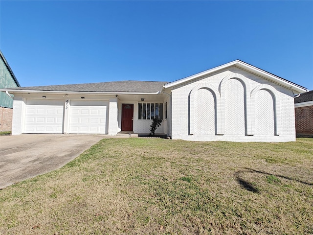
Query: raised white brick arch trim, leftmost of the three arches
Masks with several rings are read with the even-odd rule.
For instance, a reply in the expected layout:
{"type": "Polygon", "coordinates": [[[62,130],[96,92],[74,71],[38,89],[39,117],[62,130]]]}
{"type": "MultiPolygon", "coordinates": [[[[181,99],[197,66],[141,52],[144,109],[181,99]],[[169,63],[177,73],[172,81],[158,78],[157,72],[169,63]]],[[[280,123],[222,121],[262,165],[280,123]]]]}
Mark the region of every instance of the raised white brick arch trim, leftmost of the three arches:
{"type": "Polygon", "coordinates": [[[207,89],[209,90],[215,99],[215,123],[216,123],[216,134],[219,135],[221,132],[221,98],[219,91],[217,88],[212,87],[209,83],[201,83],[197,86],[195,86],[189,95],[189,134],[193,135],[195,134],[195,94],[199,89],[207,89]]]}

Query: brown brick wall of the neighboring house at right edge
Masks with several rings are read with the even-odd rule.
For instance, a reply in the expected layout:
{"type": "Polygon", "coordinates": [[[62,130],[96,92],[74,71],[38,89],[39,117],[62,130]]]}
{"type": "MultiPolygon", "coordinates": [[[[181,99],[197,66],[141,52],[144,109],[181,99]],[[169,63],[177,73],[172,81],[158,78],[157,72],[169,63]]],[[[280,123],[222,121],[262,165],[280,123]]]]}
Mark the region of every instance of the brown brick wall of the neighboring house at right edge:
{"type": "Polygon", "coordinates": [[[295,131],[313,135],[313,105],[295,108],[295,131]]]}

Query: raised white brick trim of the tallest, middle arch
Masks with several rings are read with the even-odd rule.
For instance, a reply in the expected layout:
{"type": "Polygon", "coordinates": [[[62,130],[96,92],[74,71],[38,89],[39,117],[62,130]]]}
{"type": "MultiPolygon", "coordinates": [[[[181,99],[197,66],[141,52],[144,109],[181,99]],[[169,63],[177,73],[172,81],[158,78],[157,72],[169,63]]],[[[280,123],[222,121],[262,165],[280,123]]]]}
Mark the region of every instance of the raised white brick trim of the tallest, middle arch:
{"type": "Polygon", "coordinates": [[[225,86],[229,79],[237,79],[240,81],[244,86],[245,91],[245,129],[246,129],[246,135],[253,135],[251,134],[251,105],[250,105],[250,97],[247,94],[250,94],[250,86],[249,86],[249,80],[240,73],[232,73],[225,76],[221,83],[220,83],[220,94],[221,94],[221,132],[222,134],[225,133],[225,86]]]}

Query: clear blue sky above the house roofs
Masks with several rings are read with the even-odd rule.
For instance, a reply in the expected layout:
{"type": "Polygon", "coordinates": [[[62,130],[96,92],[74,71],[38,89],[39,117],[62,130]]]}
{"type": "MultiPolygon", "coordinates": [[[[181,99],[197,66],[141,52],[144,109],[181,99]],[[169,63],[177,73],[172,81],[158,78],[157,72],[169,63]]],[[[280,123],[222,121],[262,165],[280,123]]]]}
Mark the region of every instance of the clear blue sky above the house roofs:
{"type": "Polygon", "coordinates": [[[174,81],[240,59],[313,90],[313,1],[0,1],[21,86],[174,81]]]}

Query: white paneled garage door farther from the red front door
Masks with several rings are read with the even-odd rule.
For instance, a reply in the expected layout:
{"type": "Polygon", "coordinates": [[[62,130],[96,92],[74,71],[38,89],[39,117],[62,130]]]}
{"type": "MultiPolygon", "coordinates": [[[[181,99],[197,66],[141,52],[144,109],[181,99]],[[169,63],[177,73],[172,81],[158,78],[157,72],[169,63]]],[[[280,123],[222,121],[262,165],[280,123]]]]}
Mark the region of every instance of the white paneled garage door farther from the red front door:
{"type": "Polygon", "coordinates": [[[64,100],[27,99],[25,133],[63,133],[64,100]]]}

